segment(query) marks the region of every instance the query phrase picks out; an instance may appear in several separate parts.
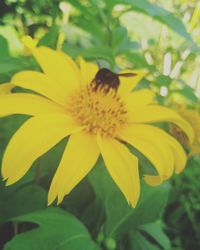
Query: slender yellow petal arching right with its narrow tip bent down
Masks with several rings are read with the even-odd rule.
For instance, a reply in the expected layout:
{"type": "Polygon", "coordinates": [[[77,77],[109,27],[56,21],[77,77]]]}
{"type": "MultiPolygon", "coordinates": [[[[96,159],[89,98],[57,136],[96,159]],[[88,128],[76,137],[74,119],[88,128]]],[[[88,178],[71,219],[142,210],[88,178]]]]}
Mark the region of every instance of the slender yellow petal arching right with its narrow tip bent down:
{"type": "Polygon", "coordinates": [[[172,122],[179,126],[188,136],[190,142],[194,140],[194,131],[191,125],[172,109],[150,105],[128,110],[131,123],[172,122]]]}

